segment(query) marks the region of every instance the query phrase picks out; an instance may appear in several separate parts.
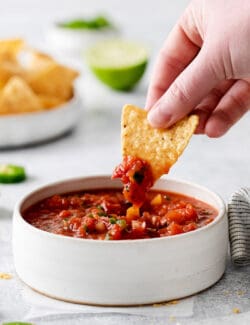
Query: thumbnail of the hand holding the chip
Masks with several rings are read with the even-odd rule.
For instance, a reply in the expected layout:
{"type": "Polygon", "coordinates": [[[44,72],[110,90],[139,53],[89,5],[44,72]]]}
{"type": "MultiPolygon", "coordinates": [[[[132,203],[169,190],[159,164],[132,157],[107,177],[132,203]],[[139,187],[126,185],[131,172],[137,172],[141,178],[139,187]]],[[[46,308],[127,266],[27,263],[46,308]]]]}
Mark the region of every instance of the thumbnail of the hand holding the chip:
{"type": "Polygon", "coordinates": [[[154,106],[148,113],[148,122],[153,127],[166,128],[169,125],[171,116],[161,104],[154,106]]]}

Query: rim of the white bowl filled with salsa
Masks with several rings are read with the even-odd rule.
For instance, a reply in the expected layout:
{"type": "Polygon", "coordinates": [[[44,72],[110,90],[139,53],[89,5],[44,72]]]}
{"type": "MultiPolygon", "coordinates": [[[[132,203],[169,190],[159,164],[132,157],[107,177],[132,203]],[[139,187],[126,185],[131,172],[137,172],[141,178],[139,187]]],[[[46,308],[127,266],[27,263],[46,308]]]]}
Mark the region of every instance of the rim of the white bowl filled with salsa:
{"type": "MultiPolygon", "coordinates": [[[[49,237],[52,239],[58,239],[58,240],[63,240],[63,241],[69,241],[69,242],[81,242],[81,243],[93,243],[92,245],[126,245],[129,244],[131,245],[136,245],[136,243],[138,244],[142,244],[142,243],[150,243],[150,242],[158,242],[158,241],[174,241],[174,240],[178,240],[178,238],[181,240],[182,238],[189,238],[190,236],[195,236],[195,235],[199,235],[201,232],[207,231],[210,228],[215,227],[218,223],[222,222],[223,217],[226,215],[226,205],[224,200],[221,198],[220,195],[218,195],[216,192],[211,191],[210,189],[206,188],[205,186],[196,184],[194,182],[190,182],[190,181],[185,181],[179,178],[170,178],[170,177],[162,177],[161,180],[169,180],[172,182],[177,182],[177,183],[181,183],[187,186],[192,186],[192,187],[196,187],[197,189],[200,189],[202,191],[208,192],[209,195],[211,195],[212,197],[215,198],[215,200],[218,202],[218,215],[216,216],[216,218],[209,224],[198,228],[194,231],[189,231],[186,233],[181,233],[181,234],[177,234],[177,235],[172,235],[172,236],[163,236],[163,237],[156,237],[156,238],[143,238],[143,239],[120,239],[120,240],[95,240],[95,239],[88,239],[88,238],[77,238],[77,237],[70,237],[70,236],[64,236],[61,234],[54,234],[39,228],[36,228],[35,226],[31,225],[30,223],[28,223],[24,217],[22,216],[21,213],[21,209],[23,204],[33,195],[35,195],[36,193],[49,189],[49,188],[53,188],[55,186],[59,186],[59,185],[63,185],[64,183],[70,183],[70,182],[77,182],[79,180],[90,180],[90,179],[96,179],[96,178],[109,178],[111,179],[111,175],[110,174],[98,174],[98,175],[89,175],[89,176],[82,176],[82,177],[73,177],[73,178],[66,178],[60,181],[55,181],[55,182],[49,182],[46,183],[42,186],[39,186],[37,188],[35,188],[34,190],[30,191],[29,193],[26,193],[15,205],[14,208],[14,216],[17,215],[17,217],[20,219],[21,223],[28,227],[31,231],[35,231],[38,234],[40,234],[41,236],[45,236],[45,237],[49,237]]],[[[157,184],[157,182],[154,184],[154,186],[157,184]]],[[[155,189],[153,186],[153,190],[155,189]]],[[[121,184],[122,187],[122,184],[121,184]]],[[[101,188],[101,187],[100,187],[101,188]]],[[[105,188],[105,187],[102,187],[105,188]]],[[[111,188],[111,187],[109,187],[111,188]]],[[[115,187],[114,187],[115,188],[115,187]]],[[[117,187],[118,188],[118,187],[117,187]]],[[[160,190],[160,189],[159,189],[160,190]]],[[[80,190],[79,190],[80,191],[80,190]]],[[[76,191],[77,192],[77,191],[76,191]]],[[[171,191],[170,191],[171,192],[171,191]]],[[[67,192],[62,192],[62,193],[67,193],[67,192]]],[[[178,193],[178,192],[173,192],[172,193],[178,193]]],[[[55,193],[56,194],[56,193],[55,193]]],[[[182,193],[180,193],[182,194],[182,193]]],[[[186,194],[184,194],[186,195],[186,194]]],[[[188,196],[188,195],[187,195],[188,196]]],[[[192,197],[192,196],[191,196],[192,197]]],[[[202,201],[202,200],[201,200],[202,201]]],[[[37,201],[38,202],[38,201],[37,201]]],[[[216,208],[217,209],[217,208],[216,208]]],[[[13,222],[15,222],[15,218],[13,219],[13,222]]]]}

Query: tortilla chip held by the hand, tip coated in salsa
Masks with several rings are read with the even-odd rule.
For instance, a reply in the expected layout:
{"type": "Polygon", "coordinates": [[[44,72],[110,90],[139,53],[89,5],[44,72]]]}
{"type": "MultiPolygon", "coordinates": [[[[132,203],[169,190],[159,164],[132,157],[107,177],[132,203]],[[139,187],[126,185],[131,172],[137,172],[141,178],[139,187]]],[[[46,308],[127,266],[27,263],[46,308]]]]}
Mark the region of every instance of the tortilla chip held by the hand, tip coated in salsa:
{"type": "Polygon", "coordinates": [[[149,125],[147,112],[125,105],[121,116],[123,161],[112,178],[120,178],[125,198],[140,207],[155,181],[167,174],[186,148],[198,124],[196,115],[186,116],[168,129],[149,125]]]}

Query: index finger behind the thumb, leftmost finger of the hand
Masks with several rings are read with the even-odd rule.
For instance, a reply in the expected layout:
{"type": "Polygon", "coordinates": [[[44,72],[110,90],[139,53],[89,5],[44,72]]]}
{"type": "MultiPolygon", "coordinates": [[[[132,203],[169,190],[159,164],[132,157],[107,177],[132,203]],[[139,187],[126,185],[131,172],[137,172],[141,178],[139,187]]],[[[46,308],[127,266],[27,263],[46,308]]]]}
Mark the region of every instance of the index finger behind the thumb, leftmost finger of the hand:
{"type": "Polygon", "coordinates": [[[189,32],[189,36],[185,32],[183,27],[187,25],[185,17],[190,17],[187,12],[173,28],[156,60],[146,100],[147,110],[151,109],[199,52],[195,29],[189,32]]]}

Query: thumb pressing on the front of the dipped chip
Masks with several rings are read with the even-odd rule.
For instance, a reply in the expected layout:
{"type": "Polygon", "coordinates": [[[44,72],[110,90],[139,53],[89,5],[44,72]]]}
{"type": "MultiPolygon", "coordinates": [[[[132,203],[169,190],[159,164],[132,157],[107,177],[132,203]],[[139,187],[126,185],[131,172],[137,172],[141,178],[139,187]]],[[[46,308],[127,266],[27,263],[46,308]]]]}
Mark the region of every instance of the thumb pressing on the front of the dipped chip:
{"type": "Polygon", "coordinates": [[[218,84],[209,56],[202,50],[148,113],[153,127],[167,128],[190,113],[218,84]]]}

